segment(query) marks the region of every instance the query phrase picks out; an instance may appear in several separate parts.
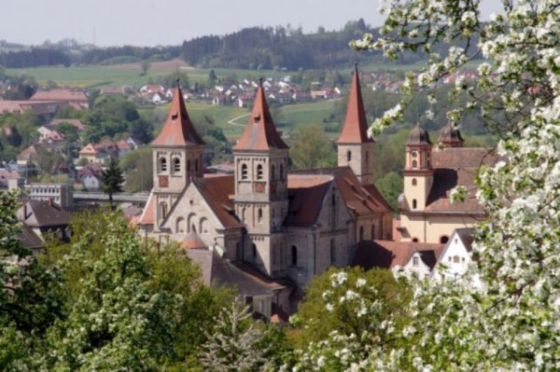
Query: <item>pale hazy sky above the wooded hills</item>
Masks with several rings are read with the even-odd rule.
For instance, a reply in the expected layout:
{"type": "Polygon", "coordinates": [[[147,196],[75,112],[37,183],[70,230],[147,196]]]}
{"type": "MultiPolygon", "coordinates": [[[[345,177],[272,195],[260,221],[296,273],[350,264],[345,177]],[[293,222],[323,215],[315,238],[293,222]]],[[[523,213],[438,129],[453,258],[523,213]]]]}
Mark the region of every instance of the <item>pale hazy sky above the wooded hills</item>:
{"type": "MultiPolygon", "coordinates": [[[[0,0],[0,39],[40,44],[172,45],[251,26],[339,29],[363,17],[379,26],[378,0],[0,0]]],[[[498,0],[486,0],[488,13],[498,0]]]]}

